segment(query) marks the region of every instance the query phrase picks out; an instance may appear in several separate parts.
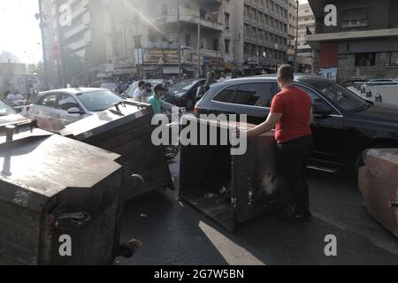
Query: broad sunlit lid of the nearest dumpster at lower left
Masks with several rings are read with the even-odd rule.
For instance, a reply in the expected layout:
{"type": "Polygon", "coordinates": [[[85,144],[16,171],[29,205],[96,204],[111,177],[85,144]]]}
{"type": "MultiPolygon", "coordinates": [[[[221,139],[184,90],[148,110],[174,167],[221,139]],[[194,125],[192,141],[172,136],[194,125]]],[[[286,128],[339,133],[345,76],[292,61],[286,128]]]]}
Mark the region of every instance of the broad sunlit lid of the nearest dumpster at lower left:
{"type": "Polygon", "coordinates": [[[120,168],[115,153],[42,132],[0,144],[0,183],[52,197],[67,187],[93,187],[120,168]]]}

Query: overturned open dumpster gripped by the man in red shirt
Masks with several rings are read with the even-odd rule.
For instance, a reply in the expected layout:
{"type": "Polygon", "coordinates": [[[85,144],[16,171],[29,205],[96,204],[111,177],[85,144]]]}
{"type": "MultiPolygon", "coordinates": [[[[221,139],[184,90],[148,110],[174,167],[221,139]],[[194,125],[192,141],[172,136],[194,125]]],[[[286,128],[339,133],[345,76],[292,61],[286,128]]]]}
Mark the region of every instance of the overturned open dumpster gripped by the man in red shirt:
{"type": "MultiPolygon", "coordinates": [[[[219,135],[219,129],[225,127],[213,121],[197,121],[202,125],[199,128],[207,127],[208,133],[211,127],[217,127],[219,135]]],[[[243,222],[286,205],[289,198],[277,174],[273,134],[249,139],[242,156],[232,156],[230,144],[183,146],[180,199],[231,232],[243,222]]]]}

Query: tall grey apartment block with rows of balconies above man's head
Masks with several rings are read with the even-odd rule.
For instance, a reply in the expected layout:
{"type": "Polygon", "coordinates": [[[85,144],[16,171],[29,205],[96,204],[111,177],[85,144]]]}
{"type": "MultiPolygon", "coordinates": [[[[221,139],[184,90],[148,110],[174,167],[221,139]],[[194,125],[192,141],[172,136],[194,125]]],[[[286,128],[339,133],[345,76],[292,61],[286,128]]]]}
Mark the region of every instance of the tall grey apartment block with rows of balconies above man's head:
{"type": "Polygon", "coordinates": [[[287,0],[233,1],[236,69],[244,74],[273,73],[287,62],[287,0]]]}

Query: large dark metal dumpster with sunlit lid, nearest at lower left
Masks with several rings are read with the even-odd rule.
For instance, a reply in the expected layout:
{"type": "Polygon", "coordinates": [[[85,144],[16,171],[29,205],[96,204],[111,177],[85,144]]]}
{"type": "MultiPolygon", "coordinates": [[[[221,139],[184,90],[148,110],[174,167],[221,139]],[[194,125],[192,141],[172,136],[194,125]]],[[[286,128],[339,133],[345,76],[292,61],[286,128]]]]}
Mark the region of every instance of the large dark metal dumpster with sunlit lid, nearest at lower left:
{"type": "Polygon", "coordinates": [[[0,264],[112,264],[126,249],[118,158],[29,122],[0,127],[0,264]]]}

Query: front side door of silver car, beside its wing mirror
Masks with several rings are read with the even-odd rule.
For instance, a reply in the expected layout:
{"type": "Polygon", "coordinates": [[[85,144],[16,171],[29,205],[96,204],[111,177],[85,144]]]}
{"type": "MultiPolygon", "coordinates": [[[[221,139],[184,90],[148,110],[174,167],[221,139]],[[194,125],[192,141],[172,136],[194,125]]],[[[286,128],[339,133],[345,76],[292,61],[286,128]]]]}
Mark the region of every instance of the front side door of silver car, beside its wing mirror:
{"type": "Polygon", "coordinates": [[[73,96],[68,94],[59,95],[59,99],[57,100],[57,109],[59,111],[59,125],[62,125],[62,128],[86,117],[80,104],[73,98],[73,96]],[[70,114],[68,111],[72,108],[79,109],[81,113],[70,114]]]}

